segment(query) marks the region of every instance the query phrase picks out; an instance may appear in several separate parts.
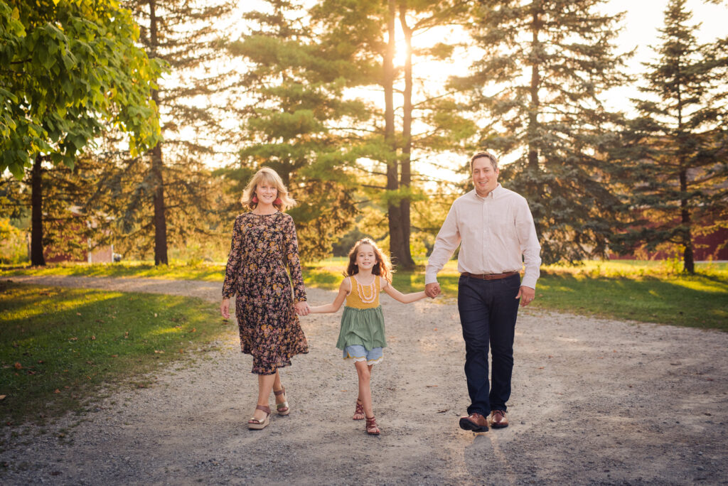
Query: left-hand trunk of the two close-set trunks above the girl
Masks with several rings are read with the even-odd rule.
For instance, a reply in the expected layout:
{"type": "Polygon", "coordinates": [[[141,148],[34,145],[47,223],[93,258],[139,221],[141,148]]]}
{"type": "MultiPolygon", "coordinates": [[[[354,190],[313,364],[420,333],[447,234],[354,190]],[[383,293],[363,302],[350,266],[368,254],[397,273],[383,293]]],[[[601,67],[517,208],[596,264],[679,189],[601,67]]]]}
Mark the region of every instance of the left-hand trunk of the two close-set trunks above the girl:
{"type": "MultiPolygon", "coordinates": [[[[390,148],[387,161],[387,191],[395,192],[399,189],[397,170],[397,140],[395,138],[395,16],[397,8],[394,0],[388,1],[389,13],[387,15],[387,47],[384,51],[384,140],[390,148]]],[[[387,202],[387,218],[389,220],[389,253],[392,261],[399,264],[403,259],[404,237],[403,221],[400,204],[387,202]]]]}

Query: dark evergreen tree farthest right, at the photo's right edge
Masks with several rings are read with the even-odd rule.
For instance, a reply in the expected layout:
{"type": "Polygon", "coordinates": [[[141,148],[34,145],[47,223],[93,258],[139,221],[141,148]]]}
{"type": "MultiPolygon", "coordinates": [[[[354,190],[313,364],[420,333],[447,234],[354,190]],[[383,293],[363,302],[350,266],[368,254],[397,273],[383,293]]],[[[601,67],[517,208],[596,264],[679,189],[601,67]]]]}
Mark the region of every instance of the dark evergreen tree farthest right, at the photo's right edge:
{"type": "Polygon", "coordinates": [[[699,44],[685,4],[670,0],[665,9],[659,58],[645,64],[645,99],[633,100],[641,116],[625,131],[622,178],[633,181],[629,202],[643,218],[617,243],[677,244],[692,274],[693,236],[727,224],[728,38],[699,44]]]}

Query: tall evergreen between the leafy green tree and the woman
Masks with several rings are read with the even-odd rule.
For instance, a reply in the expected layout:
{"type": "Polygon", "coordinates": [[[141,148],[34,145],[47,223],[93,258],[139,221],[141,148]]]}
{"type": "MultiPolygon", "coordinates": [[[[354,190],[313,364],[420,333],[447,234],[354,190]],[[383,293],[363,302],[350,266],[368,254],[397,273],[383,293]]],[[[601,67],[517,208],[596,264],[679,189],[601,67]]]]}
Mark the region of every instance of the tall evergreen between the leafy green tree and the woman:
{"type": "Polygon", "coordinates": [[[139,186],[132,190],[142,199],[131,199],[124,214],[127,229],[135,228],[138,237],[154,230],[154,263],[167,264],[170,231],[181,239],[204,234],[209,226],[200,220],[215,217],[205,159],[215,157],[226,132],[220,122],[230,72],[218,70],[225,64],[221,23],[234,2],[128,0],[124,4],[141,26],[139,41],[149,57],[170,66],[171,76],[159,79],[159,89],[151,94],[162,111],[164,139],[135,161],[146,164],[145,177],[137,178],[139,186]],[[151,225],[141,220],[149,217],[145,215],[149,199],[154,208],[151,225]]]}

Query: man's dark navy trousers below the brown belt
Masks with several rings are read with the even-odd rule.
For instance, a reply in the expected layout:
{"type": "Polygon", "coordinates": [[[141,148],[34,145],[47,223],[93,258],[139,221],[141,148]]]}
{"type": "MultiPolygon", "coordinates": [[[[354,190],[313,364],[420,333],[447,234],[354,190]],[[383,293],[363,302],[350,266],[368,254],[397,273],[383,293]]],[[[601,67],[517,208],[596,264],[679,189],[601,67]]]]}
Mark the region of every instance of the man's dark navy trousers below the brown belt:
{"type": "Polygon", "coordinates": [[[506,409],[513,374],[513,335],[521,287],[518,274],[498,280],[460,276],[457,308],[465,340],[465,377],[470,407],[467,413],[488,415],[506,409]],[[492,356],[488,382],[488,346],[492,356]]]}

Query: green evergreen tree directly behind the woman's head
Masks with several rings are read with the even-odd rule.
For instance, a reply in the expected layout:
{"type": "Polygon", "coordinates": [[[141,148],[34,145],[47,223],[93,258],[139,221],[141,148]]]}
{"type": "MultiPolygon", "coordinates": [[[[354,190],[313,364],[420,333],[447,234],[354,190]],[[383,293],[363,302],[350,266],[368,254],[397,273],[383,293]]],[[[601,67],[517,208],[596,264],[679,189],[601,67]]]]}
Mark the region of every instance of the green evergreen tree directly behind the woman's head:
{"type": "MultiPolygon", "coordinates": [[[[240,162],[221,171],[240,196],[259,167],[275,170],[298,205],[290,211],[306,260],[330,254],[331,244],[356,213],[355,180],[347,171],[356,158],[356,140],[338,124],[366,119],[363,103],[344,100],[346,66],[325,52],[290,1],[269,1],[271,13],[248,12],[251,31],[230,47],[248,70],[240,87],[245,104],[240,162]]],[[[239,212],[239,203],[230,208],[239,212]]]]}

